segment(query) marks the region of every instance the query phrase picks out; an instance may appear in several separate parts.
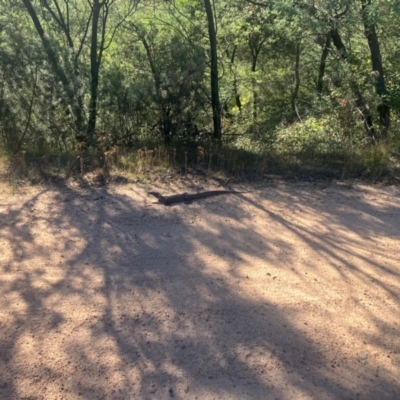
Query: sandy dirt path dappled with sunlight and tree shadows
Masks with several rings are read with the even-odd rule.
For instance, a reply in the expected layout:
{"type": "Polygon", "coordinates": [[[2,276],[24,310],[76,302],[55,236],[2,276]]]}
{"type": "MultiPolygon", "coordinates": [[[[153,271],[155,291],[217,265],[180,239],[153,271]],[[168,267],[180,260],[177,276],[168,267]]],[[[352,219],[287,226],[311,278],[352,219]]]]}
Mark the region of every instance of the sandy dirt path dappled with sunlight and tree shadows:
{"type": "Polygon", "coordinates": [[[400,188],[145,189],[0,189],[0,399],[400,399],[400,188]]]}

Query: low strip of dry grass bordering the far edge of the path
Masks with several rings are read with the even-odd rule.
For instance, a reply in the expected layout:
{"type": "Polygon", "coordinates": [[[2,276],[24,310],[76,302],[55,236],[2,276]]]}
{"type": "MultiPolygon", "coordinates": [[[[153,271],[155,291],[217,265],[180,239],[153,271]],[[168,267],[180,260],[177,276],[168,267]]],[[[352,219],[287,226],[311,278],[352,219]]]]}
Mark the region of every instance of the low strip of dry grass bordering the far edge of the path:
{"type": "Polygon", "coordinates": [[[236,182],[263,180],[279,174],[294,180],[363,179],[396,183],[400,177],[400,154],[393,143],[349,146],[333,154],[299,151],[277,153],[247,146],[161,145],[121,149],[116,146],[69,154],[19,152],[0,156],[0,179],[11,187],[73,180],[82,185],[104,185],[114,179],[134,182],[174,180],[182,176],[217,177],[236,182]]]}

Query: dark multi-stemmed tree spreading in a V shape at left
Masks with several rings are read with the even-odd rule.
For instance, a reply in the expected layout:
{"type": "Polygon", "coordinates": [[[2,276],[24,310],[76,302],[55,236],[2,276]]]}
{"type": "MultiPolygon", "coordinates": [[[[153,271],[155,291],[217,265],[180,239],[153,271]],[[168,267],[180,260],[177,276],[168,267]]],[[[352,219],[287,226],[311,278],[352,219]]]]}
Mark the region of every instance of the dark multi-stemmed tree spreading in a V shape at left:
{"type": "MultiPolygon", "coordinates": [[[[92,0],[92,2],[88,2],[89,8],[84,8],[82,2],[79,2],[79,0],[76,0],[76,4],[74,3],[75,0],[66,0],[63,6],[61,6],[57,0],[53,0],[52,3],[50,3],[49,0],[43,0],[43,6],[48,11],[51,21],[61,32],[61,37],[59,38],[60,42],[57,43],[51,41],[50,35],[45,33],[37,12],[32,5],[32,1],[22,1],[32,19],[37,34],[42,40],[43,48],[53,71],[63,85],[64,92],[67,95],[67,104],[71,106],[75,114],[76,138],[78,141],[83,141],[87,145],[93,145],[97,119],[99,73],[103,53],[112,43],[114,35],[122,22],[134,12],[137,3],[130,2],[125,13],[122,16],[117,16],[117,21],[110,29],[109,38],[107,38],[107,23],[110,17],[110,10],[115,6],[116,0],[92,0]],[[70,7],[71,5],[73,5],[73,7],[70,7]],[[75,43],[72,39],[72,10],[75,12],[84,11],[83,24],[79,23],[79,19],[82,19],[82,17],[78,17],[76,14],[74,15],[76,18],[75,22],[78,22],[75,24],[78,30],[76,34],[79,38],[77,49],[75,49],[75,43]],[[91,27],[90,32],[89,27],[91,27]],[[88,36],[90,36],[89,43],[87,43],[88,36]],[[72,52],[72,74],[68,74],[68,67],[60,64],[56,54],[57,47],[62,46],[63,41],[67,43],[67,46],[72,52]],[[84,96],[81,90],[82,83],[80,82],[79,73],[79,59],[85,44],[90,48],[90,100],[88,118],[84,115],[84,96]],[[71,76],[73,79],[71,79],[71,76]],[[88,122],[85,129],[84,121],[86,119],[88,122]]],[[[68,65],[65,62],[64,64],[68,65]]]]}

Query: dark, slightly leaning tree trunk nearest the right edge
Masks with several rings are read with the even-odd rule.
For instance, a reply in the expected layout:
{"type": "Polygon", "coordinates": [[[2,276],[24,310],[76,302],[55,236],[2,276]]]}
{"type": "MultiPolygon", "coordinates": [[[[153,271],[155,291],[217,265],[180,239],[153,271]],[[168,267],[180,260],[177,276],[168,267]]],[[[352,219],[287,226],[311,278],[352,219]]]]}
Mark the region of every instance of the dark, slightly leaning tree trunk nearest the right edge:
{"type": "Polygon", "coordinates": [[[378,106],[379,125],[382,128],[382,135],[386,136],[390,125],[390,108],[385,102],[385,74],[383,72],[378,35],[376,33],[375,24],[370,22],[368,15],[368,7],[370,5],[371,0],[361,0],[361,14],[364,23],[365,36],[368,40],[372,71],[375,75],[375,90],[376,94],[381,98],[381,104],[378,106]]]}

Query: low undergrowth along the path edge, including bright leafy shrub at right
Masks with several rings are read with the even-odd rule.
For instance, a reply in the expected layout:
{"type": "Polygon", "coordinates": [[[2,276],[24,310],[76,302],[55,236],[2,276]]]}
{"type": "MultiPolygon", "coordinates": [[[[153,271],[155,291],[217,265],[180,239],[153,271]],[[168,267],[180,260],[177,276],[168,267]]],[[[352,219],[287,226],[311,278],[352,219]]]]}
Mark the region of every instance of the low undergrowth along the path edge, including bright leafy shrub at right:
{"type": "Polygon", "coordinates": [[[113,179],[151,182],[181,175],[221,176],[234,181],[262,180],[272,174],[298,180],[399,180],[399,138],[373,143],[360,131],[341,135],[335,128],[329,119],[309,118],[257,139],[227,138],[222,146],[175,141],[166,147],[146,141],[136,148],[104,145],[69,153],[9,154],[3,149],[0,177],[11,185],[57,180],[101,185],[113,179]]]}

